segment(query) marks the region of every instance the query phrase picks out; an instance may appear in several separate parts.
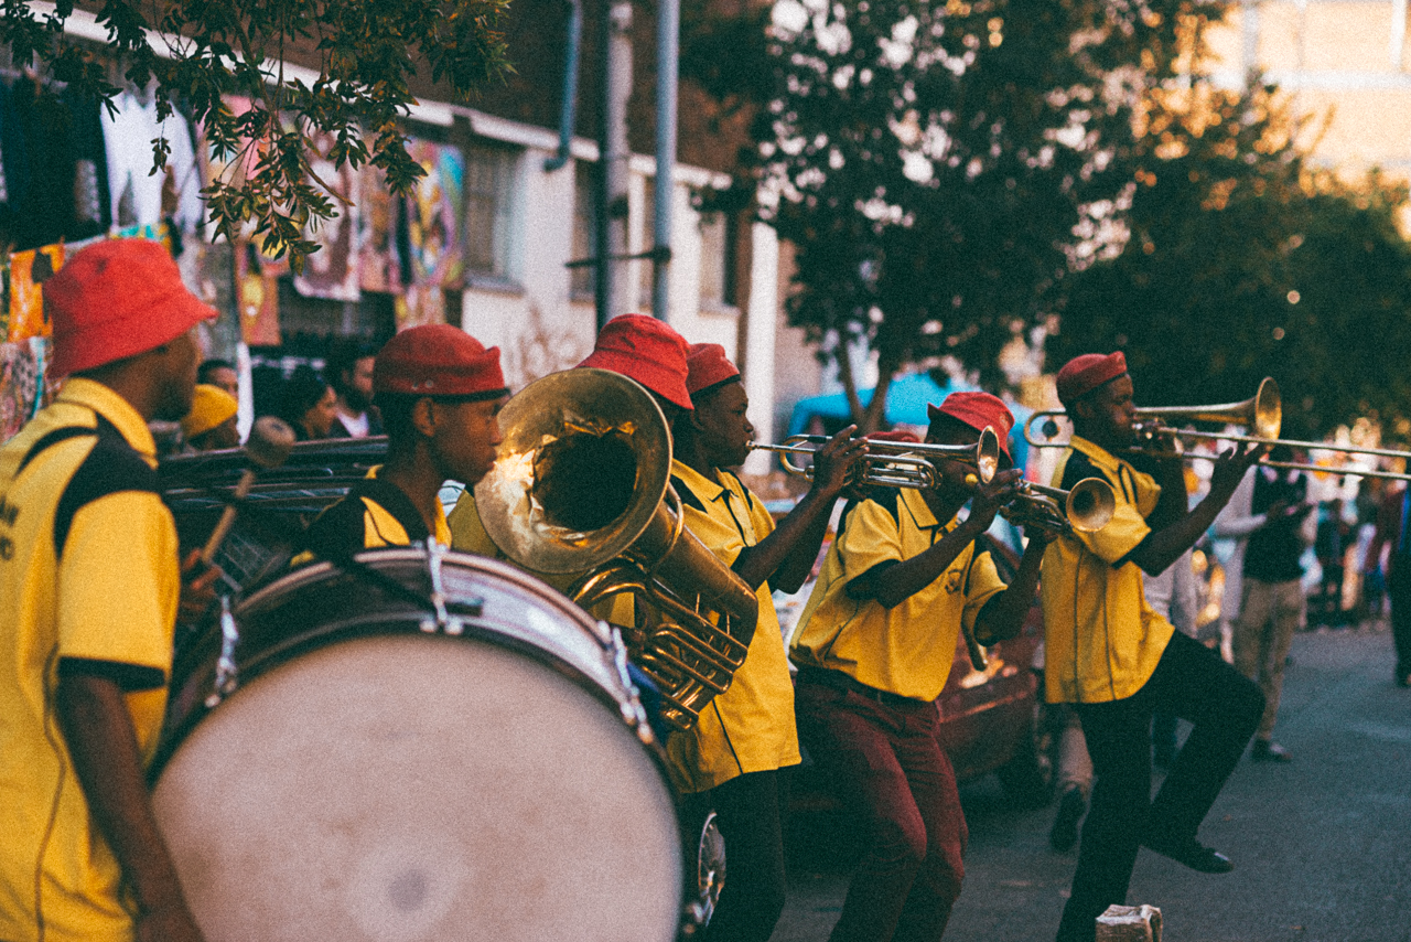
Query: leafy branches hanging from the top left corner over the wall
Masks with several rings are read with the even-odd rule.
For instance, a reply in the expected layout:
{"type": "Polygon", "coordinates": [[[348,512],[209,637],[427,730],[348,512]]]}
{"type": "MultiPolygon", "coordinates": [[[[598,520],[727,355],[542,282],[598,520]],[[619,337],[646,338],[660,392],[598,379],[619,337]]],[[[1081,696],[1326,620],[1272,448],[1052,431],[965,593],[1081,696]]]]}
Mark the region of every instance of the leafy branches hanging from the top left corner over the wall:
{"type": "MultiPolygon", "coordinates": [[[[315,250],[305,229],[336,206],[315,179],[315,140],[334,165],[371,162],[388,185],[409,192],[420,168],[398,119],[415,97],[419,69],[464,99],[508,68],[499,25],[509,0],[103,0],[96,16],[106,48],[65,35],[73,0],[56,6],[4,0],[0,42],[16,62],[42,62],[62,82],[111,100],[107,62],[145,88],[155,81],[158,114],[181,103],[205,129],[230,175],[203,191],[226,237],[253,227],[267,251],[295,264],[315,250]],[[154,45],[157,48],[154,48],[154,45]],[[295,49],[317,61],[313,81],[281,68],[295,49]],[[236,114],[226,96],[253,106],[236,114]],[[364,131],[367,138],[364,138],[364,131]]],[[[169,147],[154,143],[157,165],[169,147]]]]}

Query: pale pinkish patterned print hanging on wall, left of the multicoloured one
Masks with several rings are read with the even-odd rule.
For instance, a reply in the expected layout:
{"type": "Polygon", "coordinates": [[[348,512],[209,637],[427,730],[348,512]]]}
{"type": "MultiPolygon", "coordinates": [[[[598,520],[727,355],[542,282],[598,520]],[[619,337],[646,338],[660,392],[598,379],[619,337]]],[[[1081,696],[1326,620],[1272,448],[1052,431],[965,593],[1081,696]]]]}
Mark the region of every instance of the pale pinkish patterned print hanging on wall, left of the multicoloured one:
{"type": "Polygon", "coordinates": [[[351,167],[334,167],[323,157],[333,150],[337,138],[316,133],[313,160],[309,161],[312,177],[309,182],[322,189],[329,188],[333,203],[333,219],[325,219],[317,229],[305,229],[305,237],[317,243],[319,250],[310,253],[303,263],[303,273],[293,277],[293,290],[305,298],[327,301],[357,301],[361,298],[358,285],[358,174],[351,167]]]}

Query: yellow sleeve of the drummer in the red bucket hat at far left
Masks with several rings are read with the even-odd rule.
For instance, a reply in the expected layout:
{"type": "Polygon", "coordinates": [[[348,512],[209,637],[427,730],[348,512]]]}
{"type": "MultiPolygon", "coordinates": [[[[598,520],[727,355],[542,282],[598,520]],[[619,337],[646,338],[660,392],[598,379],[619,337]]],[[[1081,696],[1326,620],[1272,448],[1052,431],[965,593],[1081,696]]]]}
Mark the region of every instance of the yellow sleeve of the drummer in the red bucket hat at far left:
{"type": "Polygon", "coordinates": [[[176,527],[157,494],[83,506],[59,559],[59,657],[171,671],[181,575],[176,527]]]}

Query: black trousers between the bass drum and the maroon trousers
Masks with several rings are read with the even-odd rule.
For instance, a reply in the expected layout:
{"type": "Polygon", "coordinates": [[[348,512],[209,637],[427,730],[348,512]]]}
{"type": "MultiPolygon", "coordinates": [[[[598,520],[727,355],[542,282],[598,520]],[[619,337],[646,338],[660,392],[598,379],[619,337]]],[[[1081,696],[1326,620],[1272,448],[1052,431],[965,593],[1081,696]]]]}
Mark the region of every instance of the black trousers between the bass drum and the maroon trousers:
{"type": "Polygon", "coordinates": [[[768,942],[785,911],[786,775],[746,773],[710,789],[725,840],[725,887],[707,942],[768,942]]]}

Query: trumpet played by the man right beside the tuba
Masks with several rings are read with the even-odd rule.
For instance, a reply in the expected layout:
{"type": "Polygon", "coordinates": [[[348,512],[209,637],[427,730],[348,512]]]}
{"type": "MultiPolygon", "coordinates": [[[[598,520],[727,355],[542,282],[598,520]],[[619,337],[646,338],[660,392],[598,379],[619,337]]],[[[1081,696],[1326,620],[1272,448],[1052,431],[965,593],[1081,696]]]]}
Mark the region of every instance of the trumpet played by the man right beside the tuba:
{"type": "MultiPolygon", "coordinates": [[[[813,465],[796,465],[790,455],[816,455],[820,445],[830,439],[825,435],[793,435],[783,445],[761,445],[751,442],[752,451],[783,455],[785,470],[797,477],[813,480],[813,465]]],[[[971,483],[988,484],[999,472],[999,435],[985,427],[974,445],[933,445],[930,442],[878,442],[868,441],[866,456],[859,470],[854,472],[864,484],[873,487],[935,487],[941,473],[935,462],[957,460],[975,467],[971,483]]]]}

